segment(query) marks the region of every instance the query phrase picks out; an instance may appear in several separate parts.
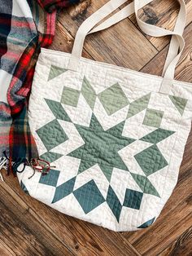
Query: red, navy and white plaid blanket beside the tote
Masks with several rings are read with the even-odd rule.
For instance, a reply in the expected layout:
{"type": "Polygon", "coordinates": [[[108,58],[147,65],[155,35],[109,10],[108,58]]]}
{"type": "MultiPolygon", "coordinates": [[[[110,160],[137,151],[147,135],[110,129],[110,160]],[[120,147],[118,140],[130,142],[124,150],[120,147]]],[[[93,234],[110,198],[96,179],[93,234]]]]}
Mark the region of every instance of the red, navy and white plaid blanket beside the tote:
{"type": "Polygon", "coordinates": [[[37,2],[0,0],[0,161],[15,162],[14,172],[21,162],[38,157],[27,115],[37,56],[53,41],[55,10],[78,0],[37,2]]]}

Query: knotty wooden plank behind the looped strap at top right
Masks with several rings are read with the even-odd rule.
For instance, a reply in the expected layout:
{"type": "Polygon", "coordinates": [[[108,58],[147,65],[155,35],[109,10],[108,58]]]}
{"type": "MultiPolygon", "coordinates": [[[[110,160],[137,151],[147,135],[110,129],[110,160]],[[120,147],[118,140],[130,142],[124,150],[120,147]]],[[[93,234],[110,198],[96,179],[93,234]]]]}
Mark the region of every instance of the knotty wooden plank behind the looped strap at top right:
{"type": "MultiPolygon", "coordinates": [[[[192,21],[192,1],[185,0],[187,10],[186,25],[192,21]]],[[[150,4],[146,5],[139,11],[139,17],[149,24],[154,24],[164,29],[173,30],[175,22],[177,20],[179,10],[179,4],[175,0],[154,0],[150,4]]],[[[129,16],[133,24],[137,26],[135,15],[129,16]]],[[[146,38],[161,51],[170,41],[169,37],[153,38],[146,36],[146,38]]]]}

